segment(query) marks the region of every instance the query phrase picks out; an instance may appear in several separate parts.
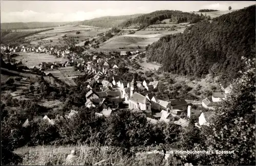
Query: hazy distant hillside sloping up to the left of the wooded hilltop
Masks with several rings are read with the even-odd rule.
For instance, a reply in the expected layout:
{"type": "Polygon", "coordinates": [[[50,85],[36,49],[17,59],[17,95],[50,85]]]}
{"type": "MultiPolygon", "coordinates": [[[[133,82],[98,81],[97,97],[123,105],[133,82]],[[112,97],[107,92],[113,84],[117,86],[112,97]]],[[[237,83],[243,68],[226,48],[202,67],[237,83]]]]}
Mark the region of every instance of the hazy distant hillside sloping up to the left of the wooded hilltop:
{"type": "Polygon", "coordinates": [[[71,24],[81,25],[81,26],[93,26],[101,28],[111,28],[118,26],[121,22],[131,19],[142,14],[133,14],[133,15],[122,15],[122,16],[104,16],[99,18],[93,18],[90,20],[84,21],[75,21],[71,24]]]}

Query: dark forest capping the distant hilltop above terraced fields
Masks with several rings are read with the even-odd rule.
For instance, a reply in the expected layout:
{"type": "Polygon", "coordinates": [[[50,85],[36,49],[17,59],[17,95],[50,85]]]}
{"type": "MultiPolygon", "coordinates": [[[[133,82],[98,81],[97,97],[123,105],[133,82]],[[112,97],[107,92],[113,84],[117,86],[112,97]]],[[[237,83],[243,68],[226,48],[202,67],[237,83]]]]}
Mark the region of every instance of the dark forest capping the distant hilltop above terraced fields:
{"type": "Polygon", "coordinates": [[[182,12],[178,10],[159,10],[148,14],[143,14],[135,18],[130,18],[123,21],[119,26],[120,27],[129,27],[132,25],[140,25],[146,27],[152,25],[157,21],[162,21],[164,19],[172,19],[172,21],[181,22],[190,22],[196,23],[202,18],[198,14],[182,12]]]}

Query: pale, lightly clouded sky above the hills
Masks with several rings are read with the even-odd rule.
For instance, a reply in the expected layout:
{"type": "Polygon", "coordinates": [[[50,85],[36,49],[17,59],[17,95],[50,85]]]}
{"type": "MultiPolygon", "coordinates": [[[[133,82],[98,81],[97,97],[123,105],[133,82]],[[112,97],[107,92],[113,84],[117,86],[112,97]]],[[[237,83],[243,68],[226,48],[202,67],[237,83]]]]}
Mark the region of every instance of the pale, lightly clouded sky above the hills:
{"type": "Polygon", "coordinates": [[[80,21],[102,16],[150,13],[156,10],[242,9],[255,1],[0,1],[3,22],[80,21]]]}

